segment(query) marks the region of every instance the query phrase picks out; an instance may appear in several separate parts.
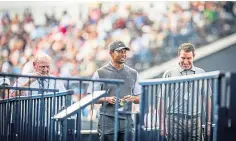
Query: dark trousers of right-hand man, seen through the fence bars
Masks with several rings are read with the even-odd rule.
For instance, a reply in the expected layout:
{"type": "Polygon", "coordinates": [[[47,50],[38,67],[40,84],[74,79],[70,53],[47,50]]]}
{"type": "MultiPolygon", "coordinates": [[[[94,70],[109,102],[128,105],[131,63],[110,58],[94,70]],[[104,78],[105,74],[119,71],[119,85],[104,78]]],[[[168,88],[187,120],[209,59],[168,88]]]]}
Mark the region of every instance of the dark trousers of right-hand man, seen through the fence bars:
{"type": "Polygon", "coordinates": [[[201,134],[200,117],[183,118],[169,115],[166,119],[168,141],[200,141],[201,134]]]}

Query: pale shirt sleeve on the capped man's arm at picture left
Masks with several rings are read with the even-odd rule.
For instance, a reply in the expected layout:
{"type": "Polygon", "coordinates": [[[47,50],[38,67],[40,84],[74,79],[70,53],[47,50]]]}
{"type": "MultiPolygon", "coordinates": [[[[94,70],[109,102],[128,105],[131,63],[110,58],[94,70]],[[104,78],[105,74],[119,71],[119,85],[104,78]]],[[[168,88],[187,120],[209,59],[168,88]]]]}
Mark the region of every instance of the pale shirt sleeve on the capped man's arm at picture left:
{"type": "MultiPolygon", "coordinates": [[[[99,79],[99,75],[98,75],[98,72],[96,71],[92,76],[92,80],[98,80],[98,79],[99,79]]],[[[101,90],[101,83],[90,81],[88,89],[87,89],[87,93],[91,94],[93,91],[98,91],[98,90],[101,90]]]]}

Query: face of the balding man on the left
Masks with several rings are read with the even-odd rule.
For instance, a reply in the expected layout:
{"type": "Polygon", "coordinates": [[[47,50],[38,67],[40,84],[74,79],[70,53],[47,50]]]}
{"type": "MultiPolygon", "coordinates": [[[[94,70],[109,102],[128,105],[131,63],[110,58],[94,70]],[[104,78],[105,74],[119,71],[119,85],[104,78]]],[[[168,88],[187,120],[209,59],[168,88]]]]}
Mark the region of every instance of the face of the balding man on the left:
{"type": "Polygon", "coordinates": [[[38,61],[34,62],[34,69],[39,75],[46,76],[50,72],[50,62],[49,61],[38,61]]]}

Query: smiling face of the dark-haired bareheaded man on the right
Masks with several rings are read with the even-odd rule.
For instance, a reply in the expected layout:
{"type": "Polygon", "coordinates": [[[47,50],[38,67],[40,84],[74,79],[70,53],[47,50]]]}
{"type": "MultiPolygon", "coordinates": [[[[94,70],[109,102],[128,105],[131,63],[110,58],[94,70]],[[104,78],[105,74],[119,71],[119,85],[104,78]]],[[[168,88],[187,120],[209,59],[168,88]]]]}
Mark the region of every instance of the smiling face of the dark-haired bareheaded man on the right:
{"type": "Polygon", "coordinates": [[[179,53],[179,65],[182,69],[188,70],[193,66],[193,52],[185,52],[183,50],[179,53]]]}

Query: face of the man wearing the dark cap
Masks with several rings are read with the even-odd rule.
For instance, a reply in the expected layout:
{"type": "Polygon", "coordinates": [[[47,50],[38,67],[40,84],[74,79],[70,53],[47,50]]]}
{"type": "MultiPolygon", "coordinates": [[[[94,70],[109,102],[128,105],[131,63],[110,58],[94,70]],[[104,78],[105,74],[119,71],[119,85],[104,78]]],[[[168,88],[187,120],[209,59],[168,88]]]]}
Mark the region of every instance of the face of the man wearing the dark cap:
{"type": "Polygon", "coordinates": [[[121,49],[119,51],[115,50],[111,52],[112,60],[117,64],[124,64],[126,60],[126,49],[121,49]]]}

